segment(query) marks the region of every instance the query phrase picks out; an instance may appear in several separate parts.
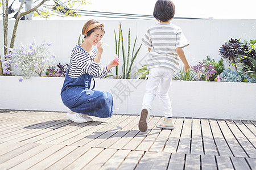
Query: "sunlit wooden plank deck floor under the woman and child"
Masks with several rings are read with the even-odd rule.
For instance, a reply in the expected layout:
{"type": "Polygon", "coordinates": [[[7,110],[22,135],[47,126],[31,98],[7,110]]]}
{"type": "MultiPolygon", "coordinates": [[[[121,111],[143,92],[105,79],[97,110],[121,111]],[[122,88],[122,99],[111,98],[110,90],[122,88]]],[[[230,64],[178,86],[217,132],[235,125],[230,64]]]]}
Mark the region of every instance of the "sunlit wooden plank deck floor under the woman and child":
{"type": "Polygon", "coordinates": [[[256,169],[256,121],[175,118],[138,130],[139,116],[0,110],[0,169],[256,169]]]}

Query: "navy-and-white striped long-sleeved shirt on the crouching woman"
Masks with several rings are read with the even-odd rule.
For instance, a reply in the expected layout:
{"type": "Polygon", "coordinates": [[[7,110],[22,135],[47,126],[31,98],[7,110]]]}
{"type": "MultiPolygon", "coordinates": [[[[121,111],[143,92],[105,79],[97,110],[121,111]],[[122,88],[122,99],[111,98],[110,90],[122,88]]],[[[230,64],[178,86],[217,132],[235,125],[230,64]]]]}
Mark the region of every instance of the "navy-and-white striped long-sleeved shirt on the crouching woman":
{"type": "Polygon", "coordinates": [[[105,78],[109,73],[106,66],[102,67],[101,63],[96,63],[93,59],[96,57],[96,49],[92,48],[92,56],[83,50],[80,44],[73,48],[70,59],[68,76],[77,78],[85,73],[93,75],[96,78],[105,78]]]}

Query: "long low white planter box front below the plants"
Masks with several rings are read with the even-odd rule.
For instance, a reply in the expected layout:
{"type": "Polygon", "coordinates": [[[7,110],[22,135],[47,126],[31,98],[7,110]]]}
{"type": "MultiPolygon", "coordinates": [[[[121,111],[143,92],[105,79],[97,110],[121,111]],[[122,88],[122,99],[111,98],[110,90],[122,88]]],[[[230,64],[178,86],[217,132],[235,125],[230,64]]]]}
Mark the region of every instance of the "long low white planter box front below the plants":
{"type": "MultiPolygon", "coordinates": [[[[0,76],[0,109],[61,111],[64,78],[0,76]]],[[[147,80],[96,79],[95,90],[114,97],[114,113],[140,114],[147,80]]],[[[256,120],[256,83],[172,81],[169,95],[174,116],[256,120]]],[[[162,116],[156,95],[152,115],[162,116]]]]}

